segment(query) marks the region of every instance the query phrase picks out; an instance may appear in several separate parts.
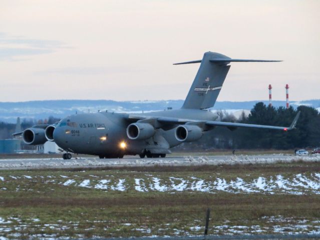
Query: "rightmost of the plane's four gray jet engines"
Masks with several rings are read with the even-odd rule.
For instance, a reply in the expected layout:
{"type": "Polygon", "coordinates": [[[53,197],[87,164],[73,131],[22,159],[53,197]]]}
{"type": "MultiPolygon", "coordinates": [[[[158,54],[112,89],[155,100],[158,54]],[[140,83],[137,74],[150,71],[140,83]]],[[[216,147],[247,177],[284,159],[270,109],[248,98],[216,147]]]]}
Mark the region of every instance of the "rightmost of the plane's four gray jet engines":
{"type": "Polygon", "coordinates": [[[180,125],[177,126],[175,132],[175,137],[178,141],[195,141],[202,137],[202,129],[196,125],[180,125]]]}

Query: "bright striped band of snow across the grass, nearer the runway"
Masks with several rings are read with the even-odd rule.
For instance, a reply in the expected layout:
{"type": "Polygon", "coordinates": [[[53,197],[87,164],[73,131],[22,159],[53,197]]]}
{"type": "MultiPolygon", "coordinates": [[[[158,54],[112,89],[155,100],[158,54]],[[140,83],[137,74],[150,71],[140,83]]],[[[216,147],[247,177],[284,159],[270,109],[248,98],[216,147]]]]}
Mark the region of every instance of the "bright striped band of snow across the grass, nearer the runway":
{"type": "Polygon", "coordinates": [[[222,177],[211,177],[211,179],[201,179],[198,177],[147,177],[134,178],[134,184],[130,185],[125,178],[121,179],[101,179],[97,184],[90,184],[90,180],[83,180],[77,184],[75,180],[68,180],[64,185],[75,184],[81,187],[94,187],[103,190],[126,191],[135,189],[140,192],[147,191],[202,191],[216,193],[226,191],[232,193],[287,193],[302,194],[315,193],[320,194],[319,173],[310,173],[309,175],[295,174],[290,177],[282,175],[267,176],[244,180],[237,177],[234,180],[226,180],[222,177]],[[70,182],[70,184],[69,184],[70,182]],[[114,182],[114,183],[112,183],[114,182]]]}

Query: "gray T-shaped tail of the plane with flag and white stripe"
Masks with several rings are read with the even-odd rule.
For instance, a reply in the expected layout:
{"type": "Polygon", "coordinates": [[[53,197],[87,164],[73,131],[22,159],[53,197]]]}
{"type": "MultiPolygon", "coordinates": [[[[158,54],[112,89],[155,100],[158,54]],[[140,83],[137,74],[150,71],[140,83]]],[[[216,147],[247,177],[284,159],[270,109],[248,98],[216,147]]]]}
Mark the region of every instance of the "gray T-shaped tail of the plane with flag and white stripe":
{"type": "Polygon", "coordinates": [[[253,59],[232,59],[217,52],[205,52],[202,60],[174,63],[188,64],[199,63],[199,70],[194,78],[189,93],[182,108],[204,109],[213,107],[220,93],[222,84],[228,74],[231,61],[279,61],[279,60],[253,60],[253,59]]]}

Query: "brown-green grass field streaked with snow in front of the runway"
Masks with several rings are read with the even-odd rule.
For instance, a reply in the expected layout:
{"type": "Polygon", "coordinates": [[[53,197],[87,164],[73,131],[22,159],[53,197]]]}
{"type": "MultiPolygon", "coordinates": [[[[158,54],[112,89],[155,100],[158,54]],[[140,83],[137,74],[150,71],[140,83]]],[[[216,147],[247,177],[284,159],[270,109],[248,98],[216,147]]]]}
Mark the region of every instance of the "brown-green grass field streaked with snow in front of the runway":
{"type": "Polygon", "coordinates": [[[8,238],[320,233],[320,165],[0,171],[8,238]]]}

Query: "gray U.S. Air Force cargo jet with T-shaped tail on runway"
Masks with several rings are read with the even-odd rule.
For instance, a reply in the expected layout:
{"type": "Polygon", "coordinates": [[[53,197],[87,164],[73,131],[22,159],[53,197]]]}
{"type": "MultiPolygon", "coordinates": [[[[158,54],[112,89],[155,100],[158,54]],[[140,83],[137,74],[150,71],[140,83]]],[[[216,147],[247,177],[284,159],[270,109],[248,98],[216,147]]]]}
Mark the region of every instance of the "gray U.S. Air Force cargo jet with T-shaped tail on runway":
{"type": "Polygon", "coordinates": [[[269,126],[217,121],[217,115],[206,110],[212,107],[230,68],[230,62],[277,61],[232,59],[216,52],[205,52],[201,60],[175,64],[200,63],[189,93],[180,109],[148,113],[95,112],[68,116],[56,124],[34,125],[22,134],[27,144],[55,141],[62,149],[64,159],[71,153],[98,155],[100,158],[136,155],[165,157],[170,148],[182,142],[196,141],[205,131],[216,126],[229,129],[256,127],[279,129],[295,128],[299,113],[290,126],[269,126]]]}

